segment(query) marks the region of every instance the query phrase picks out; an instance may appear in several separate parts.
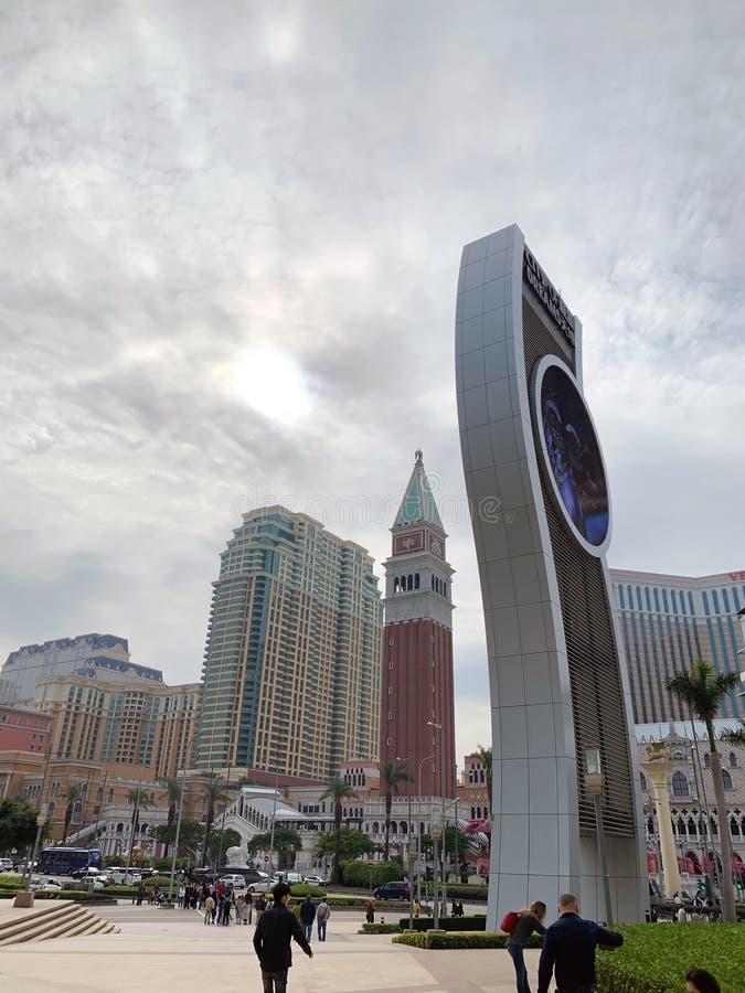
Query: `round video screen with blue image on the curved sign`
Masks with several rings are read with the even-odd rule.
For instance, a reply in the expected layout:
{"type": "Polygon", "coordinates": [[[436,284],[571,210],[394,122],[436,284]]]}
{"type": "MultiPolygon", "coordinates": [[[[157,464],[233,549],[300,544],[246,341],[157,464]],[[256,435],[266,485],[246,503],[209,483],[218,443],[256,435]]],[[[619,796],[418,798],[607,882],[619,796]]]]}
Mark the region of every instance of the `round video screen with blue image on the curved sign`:
{"type": "Polygon", "coordinates": [[[595,427],[572,376],[549,363],[536,384],[544,453],[567,520],[583,543],[599,552],[610,510],[595,427]]]}

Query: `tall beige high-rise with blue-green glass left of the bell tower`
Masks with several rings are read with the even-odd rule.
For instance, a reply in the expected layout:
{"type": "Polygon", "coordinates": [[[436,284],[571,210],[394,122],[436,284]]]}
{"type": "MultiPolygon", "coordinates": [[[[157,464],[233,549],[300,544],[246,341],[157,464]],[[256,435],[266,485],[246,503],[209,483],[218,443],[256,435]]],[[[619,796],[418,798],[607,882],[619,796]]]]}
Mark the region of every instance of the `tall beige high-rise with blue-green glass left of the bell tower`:
{"type": "Polygon", "coordinates": [[[301,513],[243,515],[221,555],[196,765],[327,779],[377,757],[382,605],[373,559],[301,513]]]}

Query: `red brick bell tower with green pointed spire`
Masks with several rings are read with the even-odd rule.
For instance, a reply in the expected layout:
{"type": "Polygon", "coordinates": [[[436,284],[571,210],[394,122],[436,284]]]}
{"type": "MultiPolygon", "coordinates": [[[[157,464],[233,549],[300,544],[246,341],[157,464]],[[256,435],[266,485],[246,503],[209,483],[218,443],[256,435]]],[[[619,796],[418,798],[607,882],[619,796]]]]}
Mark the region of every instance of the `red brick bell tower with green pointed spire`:
{"type": "Polygon", "coordinates": [[[391,532],[393,549],[384,563],[381,765],[400,759],[413,777],[400,783],[400,796],[451,798],[453,569],[445,560],[447,535],[421,451],[391,532]]]}

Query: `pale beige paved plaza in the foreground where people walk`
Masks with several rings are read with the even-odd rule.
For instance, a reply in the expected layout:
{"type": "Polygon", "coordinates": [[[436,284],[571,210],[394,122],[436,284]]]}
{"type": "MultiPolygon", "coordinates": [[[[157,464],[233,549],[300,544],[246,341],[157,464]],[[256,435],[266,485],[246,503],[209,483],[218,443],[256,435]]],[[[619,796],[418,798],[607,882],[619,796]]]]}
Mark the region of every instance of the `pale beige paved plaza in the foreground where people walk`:
{"type": "MultiPolygon", "coordinates": [[[[3,917],[8,901],[0,907],[3,917]]],[[[0,950],[0,986],[13,993],[95,990],[108,993],[260,991],[253,926],[205,927],[194,910],[118,904],[97,910],[118,935],[58,938],[0,950]]],[[[423,951],[391,943],[390,935],[358,935],[362,911],[336,911],[328,940],[313,932],[311,960],[296,946],[289,993],[501,993],[514,990],[512,962],[501,950],[423,951]]],[[[538,952],[526,953],[531,976],[538,952]]]]}

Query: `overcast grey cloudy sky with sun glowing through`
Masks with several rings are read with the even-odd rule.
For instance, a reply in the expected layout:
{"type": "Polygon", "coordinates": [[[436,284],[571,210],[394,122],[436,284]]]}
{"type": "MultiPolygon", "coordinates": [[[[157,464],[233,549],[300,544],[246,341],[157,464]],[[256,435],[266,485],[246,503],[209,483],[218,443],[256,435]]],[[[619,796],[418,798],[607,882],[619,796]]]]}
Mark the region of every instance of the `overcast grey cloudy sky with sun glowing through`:
{"type": "Polygon", "coordinates": [[[585,332],[613,566],[745,568],[745,7],[0,2],[0,659],[199,676],[267,501],[387,555],[424,449],[489,739],[460,249],[517,222],[585,332]]]}

